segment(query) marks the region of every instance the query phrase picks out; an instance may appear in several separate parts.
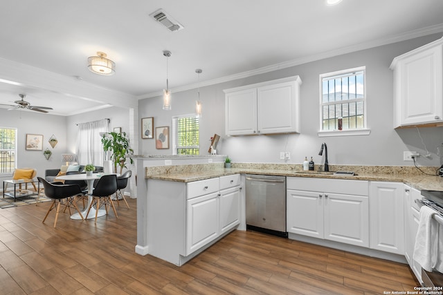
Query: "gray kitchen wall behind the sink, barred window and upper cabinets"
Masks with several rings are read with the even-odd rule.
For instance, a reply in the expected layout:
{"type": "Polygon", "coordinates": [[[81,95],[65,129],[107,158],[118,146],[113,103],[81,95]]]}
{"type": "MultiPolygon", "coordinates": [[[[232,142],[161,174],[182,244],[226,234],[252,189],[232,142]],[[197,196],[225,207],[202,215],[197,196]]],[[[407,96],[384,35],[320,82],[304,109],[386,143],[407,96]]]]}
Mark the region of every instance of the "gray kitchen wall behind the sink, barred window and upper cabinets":
{"type": "MultiPolygon", "coordinates": [[[[318,155],[318,151],[320,144],[326,142],[329,151],[329,164],[413,165],[413,162],[403,161],[403,151],[418,151],[420,154],[425,154],[427,149],[431,153],[431,157],[420,157],[419,165],[439,166],[440,158],[437,157],[436,152],[437,146],[443,142],[441,128],[421,128],[419,132],[415,128],[393,129],[392,71],[389,66],[394,57],[440,37],[442,37],[441,34],[419,37],[275,70],[271,73],[201,87],[200,96],[204,106],[200,131],[201,153],[206,153],[210,145],[210,137],[217,133],[221,135],[217,152],[228,154],[233,162],[284,163],[279,160],[280,151],[289,151],[291,160],[288,160],[287,163],[300,164],[305,156],[312,156],[314,162],[320,164],[323,163],[324,157],[318,155]],[[357,66],[366,66],[370,135],[318,137],[320,122],[318,76],[322,73],[357,66]],[[300,134],[226,137],[223,89],[293,75],[299,75],[303,82],[301,86],[302,125],[300,134]]],[[[203,70],[205,72],[205,69],[203,70]]],[[[204,72],[200,76],[201,81],[204,81],[204,72]]],[[[138,116],[139,118],[154,117],[154,127],[171,126],[172,116],[194,113],[196,97],[197,90],[172,93],[172,111],[161,109],[161,97],[143,99],[138,104],[138,116]]],[[[172,153],[171,149],[156,150],[155,140],[141,140],[139,149],[141,154],[172,153]]]]}

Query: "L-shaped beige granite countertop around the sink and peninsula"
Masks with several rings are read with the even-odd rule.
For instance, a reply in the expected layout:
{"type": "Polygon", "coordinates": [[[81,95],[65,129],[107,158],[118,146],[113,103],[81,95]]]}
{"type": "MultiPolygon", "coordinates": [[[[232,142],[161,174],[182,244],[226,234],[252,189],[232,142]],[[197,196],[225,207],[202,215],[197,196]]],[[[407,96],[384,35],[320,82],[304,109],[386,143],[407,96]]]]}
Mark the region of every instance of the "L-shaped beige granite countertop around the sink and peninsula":
{"type": "Polygon", "coordinates": [[[277,169],[245,169],[245,168],[230,168],[230,169],[211,169],[203,171],[189,171],[177,173],[161,173],[154,175],[147,175],[149,179],[167,180],[175,182],[192,182],[197,180],[205,180],[208,178],[216,178],[225,175],[233,174],[257,174],[257,175],[280,175],[293,177],[307,177],[307,178],[330,178],[330,179],[346,179],[346,180],[370,180],[370,181],[389,181],[389,182],[404,182],[405,184],[422,190],[428,189],[433,191],[443,191],[443,178],[437,175],[428,174],[398,174],[398,173],[358,173],[354,176],[332,175],[331,173],[324,173],[323,171],[291,171],[291,170],[277,170],[277,169]]]}

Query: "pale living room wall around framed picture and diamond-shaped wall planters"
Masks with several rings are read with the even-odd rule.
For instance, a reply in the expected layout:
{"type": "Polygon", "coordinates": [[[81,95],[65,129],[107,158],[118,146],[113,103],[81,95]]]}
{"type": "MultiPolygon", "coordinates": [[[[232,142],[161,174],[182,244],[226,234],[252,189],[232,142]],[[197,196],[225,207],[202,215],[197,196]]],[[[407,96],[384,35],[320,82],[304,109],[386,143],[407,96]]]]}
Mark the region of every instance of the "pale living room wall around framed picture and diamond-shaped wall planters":
{"type": "MultiPolygon", "coordinates": [[[[46,169],[60,168],[62,153],[66,153],[66,117],[37,113],[35,111],[8,111],[0,108],[0,126],[17,128],[17,168],[37,169],[37,176],[44,177],[46,169]],[[43,151],[26,151],[26,134],[43,135],[43,151],[48,148],[53,154],[46,160],[43,151]],[[55,135],[57,145],[52,148],[49,138],[55,135]]],[[[11,179],[1,175],[0,180],[11,179]]]]}

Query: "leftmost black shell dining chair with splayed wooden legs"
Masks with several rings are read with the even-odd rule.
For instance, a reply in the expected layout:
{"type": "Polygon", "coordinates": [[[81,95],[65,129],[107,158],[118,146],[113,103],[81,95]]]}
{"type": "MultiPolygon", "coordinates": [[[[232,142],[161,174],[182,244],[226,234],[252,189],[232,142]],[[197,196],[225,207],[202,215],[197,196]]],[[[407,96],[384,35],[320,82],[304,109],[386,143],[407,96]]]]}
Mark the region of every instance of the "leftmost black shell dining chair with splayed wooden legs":
{"type": "Polygon", "coordinates": [[[51,212],[52,209],[56,208],[54,220],[55,227],[55,225],[57,225],[58,213],[60,213],[60,206],[63,206],[64,209],[66,209],[67,207],[69,209],[69,215],[71,215],[71,208],[75,208],[80,214],[82,220],[84,220],[82,213],[78,209],[77,203],[75,202],[75,196],[82,194],[82,189],[80,189],[78,184],[53,184],[51,182],[47,182],[40,177],[37,177],[37,179],[39,180],[39,182],[42,182],[46,197],[53,199],[51,207],[49,207],[48,212],[46,213],[46,216],[44,216],[42,223],[44,223],[44,221],[48,217],[49,212],[51,212]],[[57,205],[55,203],[57,203],[57,205]]]}

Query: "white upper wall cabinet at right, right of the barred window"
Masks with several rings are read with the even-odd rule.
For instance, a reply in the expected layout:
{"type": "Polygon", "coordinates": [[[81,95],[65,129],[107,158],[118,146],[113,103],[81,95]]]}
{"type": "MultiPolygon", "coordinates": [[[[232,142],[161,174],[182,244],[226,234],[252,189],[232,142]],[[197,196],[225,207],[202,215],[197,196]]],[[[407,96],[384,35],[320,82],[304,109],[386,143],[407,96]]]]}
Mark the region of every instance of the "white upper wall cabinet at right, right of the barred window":
{"type": "Polygon", "coordinates": [[[395,57],[394,128],[443,126],[443,38],[395,57]]]}

